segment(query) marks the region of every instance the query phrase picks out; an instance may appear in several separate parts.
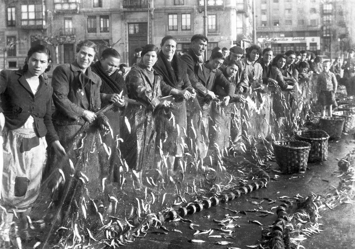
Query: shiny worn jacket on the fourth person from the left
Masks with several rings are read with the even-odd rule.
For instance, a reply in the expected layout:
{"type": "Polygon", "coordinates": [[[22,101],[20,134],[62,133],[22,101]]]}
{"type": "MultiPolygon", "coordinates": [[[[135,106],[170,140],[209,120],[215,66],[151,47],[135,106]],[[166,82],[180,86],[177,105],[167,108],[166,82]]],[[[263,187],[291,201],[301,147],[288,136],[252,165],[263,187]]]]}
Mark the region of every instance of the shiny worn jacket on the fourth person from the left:
{"type": "Polygon", "coordinates": [[[154,70],[154,81],[149,79],[142,62],[132,66],[126,78],[129,98],[137,100],[153,110],[160,105],[159,97],[162,97],[160,81],[162,77],[154,70]]]}

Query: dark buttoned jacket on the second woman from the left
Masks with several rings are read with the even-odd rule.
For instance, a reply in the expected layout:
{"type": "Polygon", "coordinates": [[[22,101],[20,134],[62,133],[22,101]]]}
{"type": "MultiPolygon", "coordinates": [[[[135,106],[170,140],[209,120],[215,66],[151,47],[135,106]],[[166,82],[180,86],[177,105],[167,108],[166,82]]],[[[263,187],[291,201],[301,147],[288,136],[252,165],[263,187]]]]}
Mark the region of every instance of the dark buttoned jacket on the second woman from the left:
{"type": "Polygon", "coordinates": [[[90,67],[85,74],[76,61],[56,67],[52,76],[54,124],[84,124],[84,110],[97,112],[101,108],[100,86],[100,77],[90,67]]]}

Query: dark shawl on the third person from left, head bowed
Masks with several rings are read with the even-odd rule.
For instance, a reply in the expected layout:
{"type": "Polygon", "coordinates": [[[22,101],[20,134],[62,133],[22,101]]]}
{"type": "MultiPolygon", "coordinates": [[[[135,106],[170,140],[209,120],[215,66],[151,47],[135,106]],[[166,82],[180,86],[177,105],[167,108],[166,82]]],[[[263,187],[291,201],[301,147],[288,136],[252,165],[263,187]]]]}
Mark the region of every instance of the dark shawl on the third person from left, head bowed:
{"type": "Polygon", "coordinates": [[[102,68],[100,61],[96,62],[91,66],[92,71],[97,74],[101,80],[102,84],[100,87],[100,92],[104,94],[119,94],[122,90],[122,96],[127,96],[127,88],[123,77],[116,70],[113,74],[108,75],[102,68]]]}

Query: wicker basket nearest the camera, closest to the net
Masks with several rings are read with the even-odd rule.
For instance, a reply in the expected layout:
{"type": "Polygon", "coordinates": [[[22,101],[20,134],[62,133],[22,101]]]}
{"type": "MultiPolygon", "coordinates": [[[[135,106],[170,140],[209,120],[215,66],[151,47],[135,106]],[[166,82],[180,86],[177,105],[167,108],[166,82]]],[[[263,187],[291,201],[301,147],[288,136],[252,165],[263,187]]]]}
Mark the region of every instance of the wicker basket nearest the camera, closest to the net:
{"type": "Polygon", "coordinates": [[[311,144],[304,141],[282,141],[273,143],[276,162],[283,173],[306,171],[311,144]]]}

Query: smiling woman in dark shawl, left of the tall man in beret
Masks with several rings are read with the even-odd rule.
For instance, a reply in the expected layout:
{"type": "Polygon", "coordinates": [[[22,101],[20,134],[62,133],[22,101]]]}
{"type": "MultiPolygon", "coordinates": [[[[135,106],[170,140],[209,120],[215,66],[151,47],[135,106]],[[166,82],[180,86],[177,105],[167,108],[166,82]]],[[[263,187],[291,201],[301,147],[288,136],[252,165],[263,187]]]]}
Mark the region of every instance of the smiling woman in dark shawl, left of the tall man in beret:
{"type": "MultiPolygon", "coordinates": [[[[161,50],[158,54],[157,63],[154,70],[162,76],[160,86],[163,96],[172,95],[175,99],[170,111],[175,116],[175,126],[171,121],[171,115],[163,118],[162,125],[159,127],[157,142],[165,141],[163,145],[164,156],[167,156],[168,171],[174,174],[175,158],[181,158],[184,154],[180,144],[184,139],[184,129],[187,129],[186,121],[186,100],[196,96],[189,76],[187,75],[186,63],[175,54],[176,39],[173,36],[165,36],[160,43],[161,50]],[[169,121],[170,120],[170,121],[169,121]],[[166,134],[168,135],[166,137],[166,134]],[[160,136],[159,136],[160,135],[160,136]]],[[[157,154],[155,158],[157,168],[160,169],[162,159],[157,154]]]]}

